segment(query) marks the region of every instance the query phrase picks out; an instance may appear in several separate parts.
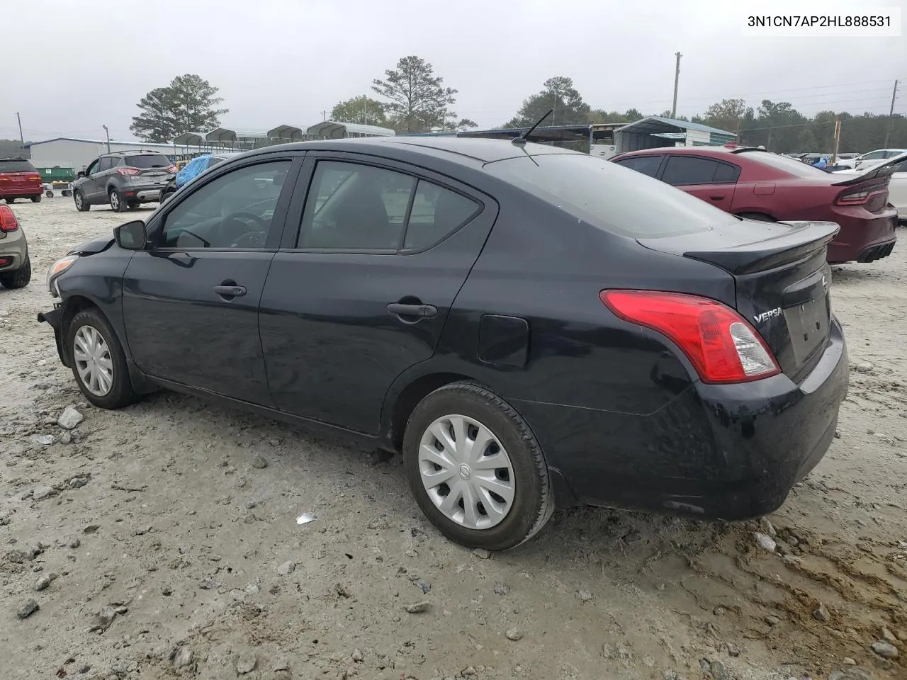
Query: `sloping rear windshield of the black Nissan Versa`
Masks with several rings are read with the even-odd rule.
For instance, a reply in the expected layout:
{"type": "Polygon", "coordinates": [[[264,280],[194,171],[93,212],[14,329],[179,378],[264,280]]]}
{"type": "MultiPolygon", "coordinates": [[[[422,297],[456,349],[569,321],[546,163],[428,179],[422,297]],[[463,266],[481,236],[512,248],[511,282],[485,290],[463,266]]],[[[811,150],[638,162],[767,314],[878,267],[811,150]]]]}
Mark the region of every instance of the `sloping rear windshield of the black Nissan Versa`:
{"type": "Polygon", "coordinates": [[[740,221],[664,182],[586,154],[517,157],[485,169],[593,227],[630,238],[691,234],[740,221]]]}

